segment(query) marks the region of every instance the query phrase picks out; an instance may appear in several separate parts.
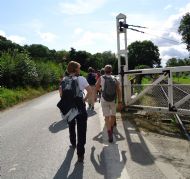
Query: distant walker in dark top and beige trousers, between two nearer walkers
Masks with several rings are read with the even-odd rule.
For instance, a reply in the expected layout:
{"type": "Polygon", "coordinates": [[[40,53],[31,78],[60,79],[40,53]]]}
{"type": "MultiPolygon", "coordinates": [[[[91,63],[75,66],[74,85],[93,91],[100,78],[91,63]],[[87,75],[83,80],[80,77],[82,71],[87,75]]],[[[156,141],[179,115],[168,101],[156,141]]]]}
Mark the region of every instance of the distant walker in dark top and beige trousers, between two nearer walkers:
{"type": "Polygon", "coordinates": [[[95,84],[96,84],[96,75],[94,73],[94,69],[92,67],[88,68],[88,75],[87,75],[87,81],[92,89],[92,95],[89,97],[88,99],[88,109],[90,110],[94,110],[94,103],[95,103],[95,99],[96,99],[96,88],[95,88],[95,84]]]}

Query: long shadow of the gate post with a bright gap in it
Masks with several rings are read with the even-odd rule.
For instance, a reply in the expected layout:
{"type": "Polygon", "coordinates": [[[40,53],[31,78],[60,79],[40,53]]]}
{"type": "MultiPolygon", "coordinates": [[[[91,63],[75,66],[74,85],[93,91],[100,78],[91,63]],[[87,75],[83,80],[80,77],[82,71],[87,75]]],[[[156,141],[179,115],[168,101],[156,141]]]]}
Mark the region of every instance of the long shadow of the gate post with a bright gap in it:
{"type": "Polygon", "coordinates": [[[131,159],[141,165],[154,164],[155,158],[151,155],[142,135],[135,130],[126,117],[122,116],[122,122],[126,134],[131,159]]]}

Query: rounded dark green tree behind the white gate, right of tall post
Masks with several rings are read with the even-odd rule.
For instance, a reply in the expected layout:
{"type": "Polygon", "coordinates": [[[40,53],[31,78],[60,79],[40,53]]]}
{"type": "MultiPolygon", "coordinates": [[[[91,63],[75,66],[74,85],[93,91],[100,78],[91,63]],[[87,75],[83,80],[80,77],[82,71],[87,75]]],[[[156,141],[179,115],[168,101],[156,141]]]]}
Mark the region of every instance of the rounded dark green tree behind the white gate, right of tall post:
{"type": "Polygon", "coordinates": [[[135,69],[139,65],[147,65],[150,68],[160,67],[161,59],[159,49],[151,41],[136,41],[128,46],[129,69],[135,69]]]}

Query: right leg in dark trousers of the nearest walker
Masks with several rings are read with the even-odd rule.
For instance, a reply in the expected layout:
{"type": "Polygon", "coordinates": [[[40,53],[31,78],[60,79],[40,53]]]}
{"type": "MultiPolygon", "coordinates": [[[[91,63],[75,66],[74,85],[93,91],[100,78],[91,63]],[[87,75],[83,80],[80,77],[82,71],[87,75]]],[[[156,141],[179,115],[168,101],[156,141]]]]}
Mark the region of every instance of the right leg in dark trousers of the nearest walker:
{"type": "Polygon", "coordinates": [[[87,131],[87,113],[79,114],[77,116],[77,155],[78,161],[82,162],[84,159],[85,153],[85,144],[86,144],[86,131],[87,131]]]}

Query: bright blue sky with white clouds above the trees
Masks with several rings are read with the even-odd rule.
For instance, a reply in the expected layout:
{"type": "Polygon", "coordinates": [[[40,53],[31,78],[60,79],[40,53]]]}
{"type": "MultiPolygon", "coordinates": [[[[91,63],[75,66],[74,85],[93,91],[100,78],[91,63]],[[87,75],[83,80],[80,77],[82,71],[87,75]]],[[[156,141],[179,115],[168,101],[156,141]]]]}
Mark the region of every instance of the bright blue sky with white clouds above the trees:
{"type": "Polygon", "coordinates": [[[91,54],[117,53],[116,16],[127,24],[147,27],[127,30],[127,44],[151,40],[161,63],[187,58],[177,32],[190,0],[0,0],[0,35],[20,45],[42,44],[49,49],[75,48],[91,54]]]}

